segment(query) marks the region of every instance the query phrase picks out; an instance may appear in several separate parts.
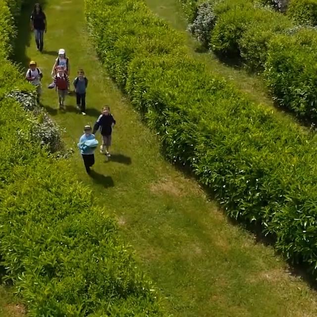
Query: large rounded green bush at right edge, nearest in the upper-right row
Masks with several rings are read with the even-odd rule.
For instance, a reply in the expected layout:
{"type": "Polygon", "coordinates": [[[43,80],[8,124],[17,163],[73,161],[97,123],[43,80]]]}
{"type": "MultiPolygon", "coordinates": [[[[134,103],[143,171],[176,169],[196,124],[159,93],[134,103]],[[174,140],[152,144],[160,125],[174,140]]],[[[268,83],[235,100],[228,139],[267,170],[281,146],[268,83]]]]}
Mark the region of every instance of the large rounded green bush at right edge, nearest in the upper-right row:
{"type": "Polygon", "coordinates": [[[271,41],[264,77],[274,99],[299,116],[317,119],[317,34],[301,29],[271,41]]]}

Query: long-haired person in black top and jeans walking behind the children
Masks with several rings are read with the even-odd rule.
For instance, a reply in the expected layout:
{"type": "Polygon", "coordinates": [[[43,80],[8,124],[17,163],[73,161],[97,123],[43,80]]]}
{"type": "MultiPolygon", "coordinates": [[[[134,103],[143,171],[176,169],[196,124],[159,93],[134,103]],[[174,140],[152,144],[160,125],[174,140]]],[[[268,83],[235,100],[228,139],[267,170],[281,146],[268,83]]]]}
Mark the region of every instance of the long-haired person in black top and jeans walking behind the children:
{"type": "Polygon", "coordinates": [[[40,3],[34,5],[31,14],[31,30],[34,31],[38,51],[42,52],[44,46],[44,32],[46,33],[47,31],[47,23],[45,13],[43,12],[40,3]]]}

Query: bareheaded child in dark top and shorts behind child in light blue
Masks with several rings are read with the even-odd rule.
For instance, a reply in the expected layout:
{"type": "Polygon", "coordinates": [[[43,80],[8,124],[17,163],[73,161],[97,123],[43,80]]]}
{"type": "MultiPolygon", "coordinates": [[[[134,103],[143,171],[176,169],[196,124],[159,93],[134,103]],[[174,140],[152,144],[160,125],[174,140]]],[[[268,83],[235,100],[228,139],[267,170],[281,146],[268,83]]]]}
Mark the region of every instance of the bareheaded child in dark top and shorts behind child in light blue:
{"type": "Polygon", "coordinates": [[[101,127],[101,135],[103,137],[103,144],[100,147],[100,153],[104,154],[104,150],[106,148],[106,156],[110,158],[110,146],[111,146],[111,133],[112,133],[112,128],[115,125],[115,120],[110,113],[110,107],[109,106],[104,106],[102,114],[98,117],[95,125],[94,125],[94,130],[93,134],[97,132],[99,127],[101,127]]]}

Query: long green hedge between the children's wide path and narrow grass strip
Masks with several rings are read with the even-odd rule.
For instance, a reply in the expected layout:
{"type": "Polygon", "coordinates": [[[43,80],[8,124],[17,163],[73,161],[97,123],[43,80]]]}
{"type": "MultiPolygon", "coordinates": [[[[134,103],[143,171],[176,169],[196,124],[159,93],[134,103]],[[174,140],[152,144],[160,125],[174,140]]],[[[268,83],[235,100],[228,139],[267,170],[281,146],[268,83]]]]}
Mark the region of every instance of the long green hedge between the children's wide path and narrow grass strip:
{"type": "Polygon", "coordinates": [[[262,224],[288,259],[317,267],[317,137],[251,103],[184,53],[142,0],[86,0],[108,72],[227,213],[262,224]]]}

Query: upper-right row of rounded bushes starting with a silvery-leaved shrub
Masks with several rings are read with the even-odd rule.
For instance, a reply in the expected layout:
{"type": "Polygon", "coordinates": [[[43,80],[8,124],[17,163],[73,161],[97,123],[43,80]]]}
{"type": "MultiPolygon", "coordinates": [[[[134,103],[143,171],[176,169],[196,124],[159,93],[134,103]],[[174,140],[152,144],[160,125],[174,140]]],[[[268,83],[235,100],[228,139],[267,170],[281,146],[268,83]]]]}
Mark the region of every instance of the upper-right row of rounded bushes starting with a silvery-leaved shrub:
{"type": "Polygon", "coordinates": [[[315,29],[295,28],[286,15],[252,0],[202,2],[189,29],[214,53],[239,56],[249,68],[264,71],[277,105],[316,121],[315,29]]]}

